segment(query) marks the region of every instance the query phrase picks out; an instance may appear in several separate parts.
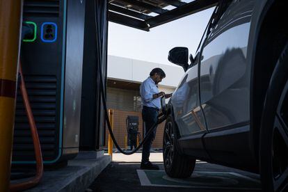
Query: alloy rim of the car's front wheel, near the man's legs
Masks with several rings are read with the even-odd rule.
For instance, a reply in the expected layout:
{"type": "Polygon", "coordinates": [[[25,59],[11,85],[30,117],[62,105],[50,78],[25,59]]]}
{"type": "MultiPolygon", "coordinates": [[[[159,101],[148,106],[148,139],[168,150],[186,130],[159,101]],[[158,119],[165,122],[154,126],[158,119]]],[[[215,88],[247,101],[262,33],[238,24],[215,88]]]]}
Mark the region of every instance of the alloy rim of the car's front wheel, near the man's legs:
{"type": "Polygon", "coordinates": [[[174,156],[174,134],[172,122],[168,122],[164,129],[163,154],[166,168],[170,168],[174,156]]]}

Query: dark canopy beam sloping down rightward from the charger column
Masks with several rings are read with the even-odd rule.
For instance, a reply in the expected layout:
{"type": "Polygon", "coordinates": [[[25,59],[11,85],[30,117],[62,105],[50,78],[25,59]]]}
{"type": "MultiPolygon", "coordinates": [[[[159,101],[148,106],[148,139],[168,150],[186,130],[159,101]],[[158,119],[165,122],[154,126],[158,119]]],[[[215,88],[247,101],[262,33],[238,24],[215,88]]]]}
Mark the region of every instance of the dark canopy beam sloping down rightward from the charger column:
{"type": "Polygon", "coordinates": [[[108,19],[110,22],[134,27],[136,29],[141,29],[143,31],[149,31],[147,23],[139,19],[134,19],[132,17],[121,15],[111,11],[108,12],[108,19]]]}

